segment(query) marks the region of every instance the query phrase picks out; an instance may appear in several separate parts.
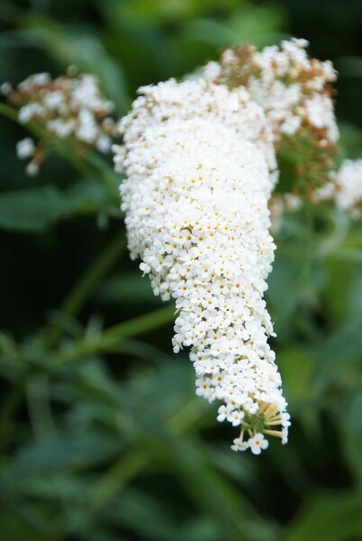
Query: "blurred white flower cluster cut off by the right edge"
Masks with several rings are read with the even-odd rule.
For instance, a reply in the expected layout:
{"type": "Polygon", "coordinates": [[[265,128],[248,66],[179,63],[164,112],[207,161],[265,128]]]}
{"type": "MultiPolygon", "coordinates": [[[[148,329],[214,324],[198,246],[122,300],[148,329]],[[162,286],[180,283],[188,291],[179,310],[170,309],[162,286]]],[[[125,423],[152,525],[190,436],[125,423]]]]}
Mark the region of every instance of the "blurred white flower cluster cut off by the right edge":
{"type": "Polygon", "coordinates": [[[359,217],[362,214],[362,160],[343,160],[338,172],[330,176],[331,181],[318,191],[318,196],[359,217]]]}

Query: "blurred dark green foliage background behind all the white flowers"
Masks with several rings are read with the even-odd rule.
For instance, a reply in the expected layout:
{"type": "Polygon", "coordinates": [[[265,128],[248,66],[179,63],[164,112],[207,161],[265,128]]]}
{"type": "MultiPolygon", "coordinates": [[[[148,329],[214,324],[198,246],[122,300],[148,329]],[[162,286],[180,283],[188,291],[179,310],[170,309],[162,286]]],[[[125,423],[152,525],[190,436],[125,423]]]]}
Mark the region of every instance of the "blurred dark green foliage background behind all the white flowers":
{"type": "MultiPolygon", "coordinates": [[[[306,38],[339,70],[343,151],[362,157],[360,0],[2,0],[0,27],[0,82],[77,65],[117,115],[222,48],[306,38]]],[[[26,132],[2,118],[0,134],[1,540],[362,539],[360,222],[309,209],[276,234],[290,442],[234,454],[129,260],[111,160],[85,175],[53,155],[30,179],[26,132]]]]}

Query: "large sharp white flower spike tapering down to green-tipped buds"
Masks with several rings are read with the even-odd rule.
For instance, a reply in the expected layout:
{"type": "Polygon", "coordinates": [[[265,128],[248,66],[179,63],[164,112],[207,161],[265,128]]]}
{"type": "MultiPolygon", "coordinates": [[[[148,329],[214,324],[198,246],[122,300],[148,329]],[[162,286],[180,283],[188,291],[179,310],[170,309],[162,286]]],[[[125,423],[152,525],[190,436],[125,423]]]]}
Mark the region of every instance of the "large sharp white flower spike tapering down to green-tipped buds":
{"type": "Polygon", "coordinates": [[[240,426],[232,449],[259,454],[290,424],[263,299],[275,249],[266,119],[244,89],[202,79],[140,92],[114,145],[131,257],[176,299],[174,350],[191,347],[196,393],[240,426]]]}

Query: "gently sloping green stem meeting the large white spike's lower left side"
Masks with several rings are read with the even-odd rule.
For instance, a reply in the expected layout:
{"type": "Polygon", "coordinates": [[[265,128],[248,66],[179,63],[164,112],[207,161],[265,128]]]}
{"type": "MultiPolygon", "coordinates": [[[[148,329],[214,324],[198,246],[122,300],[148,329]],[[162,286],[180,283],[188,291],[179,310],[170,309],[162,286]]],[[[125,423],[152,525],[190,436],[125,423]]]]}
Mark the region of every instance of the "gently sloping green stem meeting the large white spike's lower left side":
{"type": "Polygon", "coordinates": [[[72,349],[64,353],[60,353],[56,359],[56,365],[68,364],[68,362],[76,362],[80,359],[93,355],[95,353],[104,353],[112,350],[114,345],[119,344],[125,338],[147,333],[157,329],[160,326],[172,321],[175,315],[175,307],[167,306],[159,308],[154,312],[143,316],[135,317],[129,321],[125,321],[120,325],[113,326],[95,338],[86,342],[81,342],[72,349]]]}

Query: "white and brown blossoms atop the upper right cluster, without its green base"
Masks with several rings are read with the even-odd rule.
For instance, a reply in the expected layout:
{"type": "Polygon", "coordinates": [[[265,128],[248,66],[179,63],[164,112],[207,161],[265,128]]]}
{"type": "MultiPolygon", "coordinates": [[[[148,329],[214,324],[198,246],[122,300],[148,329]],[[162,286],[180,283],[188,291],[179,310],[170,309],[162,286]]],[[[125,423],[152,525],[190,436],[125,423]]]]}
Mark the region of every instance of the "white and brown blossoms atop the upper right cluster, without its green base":
{"type": "Polygon", "coordinates": [[[280,48],[225,50],[220,64],[211,62],[202,73],[208,80],[245,86],[262,105],[276,142],[304,127],[322,130],[328,145],[339,137],[329,92],[336,72],[330,61],[309,59],[307,45],[306,40],[292,39],[282,41],[280,48]]]}

